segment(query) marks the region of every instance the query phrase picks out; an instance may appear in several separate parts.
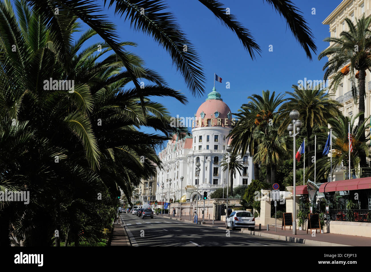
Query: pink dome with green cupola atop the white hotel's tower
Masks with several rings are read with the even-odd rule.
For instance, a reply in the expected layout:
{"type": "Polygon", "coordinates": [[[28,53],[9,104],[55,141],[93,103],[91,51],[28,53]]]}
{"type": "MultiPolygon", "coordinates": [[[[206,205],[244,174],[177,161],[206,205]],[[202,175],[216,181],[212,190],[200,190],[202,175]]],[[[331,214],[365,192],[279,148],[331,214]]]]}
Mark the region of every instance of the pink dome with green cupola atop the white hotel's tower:
{"type": "Polygon", "coordinates": [[[200,127],[198,125],[200,119],[202,119],[201,127],[229,127],[231,125],[231,110],[220,98],[220,93],[216,91],[215,87],[213,91],[208,94],[206,101],[202,103],[197,110],[196,127],[200,127]],[[206,119],[208,124],[204,123],[206,119]]]}

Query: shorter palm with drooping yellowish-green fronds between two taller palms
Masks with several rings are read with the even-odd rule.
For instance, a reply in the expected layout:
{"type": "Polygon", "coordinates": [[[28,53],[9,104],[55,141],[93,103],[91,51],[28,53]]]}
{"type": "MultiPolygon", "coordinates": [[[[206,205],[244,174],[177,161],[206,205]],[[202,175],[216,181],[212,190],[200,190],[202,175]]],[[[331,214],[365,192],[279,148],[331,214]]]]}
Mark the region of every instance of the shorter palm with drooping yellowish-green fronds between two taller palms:
{"type": "Polygon", "coordinates": [[[267,171],[270,169],[270,175],[267,172],[266,182],[274,184],[277,181],[277,168],[289,154],[286,146],[289,136],[279,135],[278,125],[271,125],[267,126],[266,133],[255,130],[253,137],[259,139],[260,142],[254,155],[254,161],[265,165],[267,171]]]}

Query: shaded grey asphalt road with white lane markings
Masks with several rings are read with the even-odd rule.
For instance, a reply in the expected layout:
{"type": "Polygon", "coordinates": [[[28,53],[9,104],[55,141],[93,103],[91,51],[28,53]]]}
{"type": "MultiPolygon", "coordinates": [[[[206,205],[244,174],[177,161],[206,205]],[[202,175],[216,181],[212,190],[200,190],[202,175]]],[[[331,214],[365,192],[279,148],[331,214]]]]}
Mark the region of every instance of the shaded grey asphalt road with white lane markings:
{"type": "Polygon", "coordinates": [[[156,215],[142,219],[121,214],[120,218],[133,246],[305,246],[156,215]]]}

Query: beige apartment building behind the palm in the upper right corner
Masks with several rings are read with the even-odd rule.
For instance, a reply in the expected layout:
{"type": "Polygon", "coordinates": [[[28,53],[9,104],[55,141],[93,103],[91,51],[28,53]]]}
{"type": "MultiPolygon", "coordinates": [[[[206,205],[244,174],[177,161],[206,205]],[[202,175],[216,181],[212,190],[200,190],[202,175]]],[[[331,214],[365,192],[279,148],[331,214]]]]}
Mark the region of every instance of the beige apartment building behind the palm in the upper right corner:
{"type": "MultiPolygon", "coordinates": [[[[350,18],[355,21],[359,17],[371,15],[371,0],[344,0],[339,6],[322,22],[322,24],[329,25],[329,32],[331,37],[339,37],[342,31],[348,31],[345,18],[350,18]]],[[[329,47],[333,46],[330,43],[329,47]]],[[[370,116],[370,94],[371,94],[371,77],[370,72],[366,71],[366,98],[365,98],[365,117],[370,116]]],[[[330,75],[328,80],[331,83],[333,75],[330,75]]],[[[358,114],[358,105],[354,104],[351,93],[351,82],[349,80],[350,74],[344,77],[343,82],[339,85],[337,90],[331,90],[334,99],[342,104],[340,111],[345,116],[354,116],[358,114]]]]}

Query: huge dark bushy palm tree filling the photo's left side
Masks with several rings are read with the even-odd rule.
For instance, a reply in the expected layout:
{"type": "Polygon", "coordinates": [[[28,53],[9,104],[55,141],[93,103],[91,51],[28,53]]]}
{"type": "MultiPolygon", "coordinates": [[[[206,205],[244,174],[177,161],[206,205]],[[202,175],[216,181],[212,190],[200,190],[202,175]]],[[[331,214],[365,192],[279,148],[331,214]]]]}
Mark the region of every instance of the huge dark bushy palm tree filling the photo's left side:
{"type": "Polygon", "coordinates": [[[161,165],[155,147],[179,132],[166,108],[149,97],[187,100],[127,51],[136,76],[154,83],[145,86],[141,98],[126,88],[132,80],[116,55],[103,56],[111,50],[107,44],[100,53],[97,44],[82,48],[95,31],[73,44],[79,25],[65,14],[60,18],[65,27],[58,31],[66,40],[60,43],[44,18],[20,1],[15,4],[17,16],[10,4],[0,2],[0,141],[7,147],[0,150],[0,186],[27,188],[32,201],[1,203],[0,242],[9,245],[11,235],[13,244],[49,246],[58,229],[65,245],[94,245],[111,223],[117,190],[128,196],[131,185],[154,174],[152,162],[161,165]],[[43,81],[50,77],[74,79],[74,92],[45,90],[43,81]]]}

